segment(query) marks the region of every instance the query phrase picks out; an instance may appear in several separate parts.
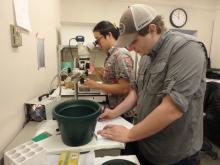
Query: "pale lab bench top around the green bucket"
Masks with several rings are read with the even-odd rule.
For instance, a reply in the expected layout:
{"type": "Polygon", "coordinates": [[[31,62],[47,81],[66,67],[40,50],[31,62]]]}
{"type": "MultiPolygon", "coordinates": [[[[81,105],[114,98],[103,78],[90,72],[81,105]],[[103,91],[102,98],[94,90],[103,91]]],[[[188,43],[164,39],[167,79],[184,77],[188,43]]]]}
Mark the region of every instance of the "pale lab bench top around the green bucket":
{"type": "MultiPolygon", "coordinates": [[[[132,124],[128,123],[121,117],[113,119],[112,121],[97,122],[96,130],[102,129],[108,123],[113,124],[122,124],[127,126],[128,128],[132,127],[132,124]]],[[[133,160],[133,162],[138,162],[136,156],[119,156],[120,150],[125,147],[124,143],[116,142],[108,139],[104,139],[100,137],[94,137],[88,144],[79,146],[79,147],[69,147],[66,146],[59,134],[56,134],[57,122],[55,120],[44,120],[42,122],[30,121],[25,127],[18,133],[15,139],[7,146],[5,152],[30,141],[33,137],[39,135],[42,132],[49,132],[53,134],[51,137],[46,138],[38,142],[40,146],[43,146],[48,154],[59,155],[63,151],[76,151],[76,152],[84,152],[84,151],[95,151],[95,164],[99,164],[104,160],[114,159],[114,158],[122,158],[127,160],[133,160]],[[52,140],[51,140],[51,139],[52,140]]],[[[139,163],[137,163],[139,164],[139,163]]]]}

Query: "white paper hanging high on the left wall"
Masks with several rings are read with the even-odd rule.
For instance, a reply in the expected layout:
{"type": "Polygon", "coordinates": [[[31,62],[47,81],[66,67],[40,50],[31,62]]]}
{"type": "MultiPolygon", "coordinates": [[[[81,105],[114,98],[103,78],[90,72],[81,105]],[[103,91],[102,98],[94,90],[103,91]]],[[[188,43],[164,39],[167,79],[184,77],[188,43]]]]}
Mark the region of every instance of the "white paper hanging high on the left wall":
{"type": "Polygon", "coordinates": [[[17,25],[28,31],[31,31],[30,19],[28,14],[28,1],[14,0],[14,10],[17,25]]]}

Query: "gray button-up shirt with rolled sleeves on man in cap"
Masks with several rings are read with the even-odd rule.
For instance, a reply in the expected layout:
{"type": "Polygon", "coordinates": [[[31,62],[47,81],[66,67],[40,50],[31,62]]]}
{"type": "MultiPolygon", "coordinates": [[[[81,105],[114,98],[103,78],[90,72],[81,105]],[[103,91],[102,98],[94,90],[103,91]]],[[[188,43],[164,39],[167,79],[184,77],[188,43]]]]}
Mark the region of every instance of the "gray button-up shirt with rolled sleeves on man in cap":
{"type": "Polygon", "coordinates": [[[144,157],[155,164],[171,164],[199,151],[203,139],[205,47],[194,38],[164,33],[140,61],[137,79],[137,122],[169,95],[183,116],[155,135],[138,141],[144,157]]]}

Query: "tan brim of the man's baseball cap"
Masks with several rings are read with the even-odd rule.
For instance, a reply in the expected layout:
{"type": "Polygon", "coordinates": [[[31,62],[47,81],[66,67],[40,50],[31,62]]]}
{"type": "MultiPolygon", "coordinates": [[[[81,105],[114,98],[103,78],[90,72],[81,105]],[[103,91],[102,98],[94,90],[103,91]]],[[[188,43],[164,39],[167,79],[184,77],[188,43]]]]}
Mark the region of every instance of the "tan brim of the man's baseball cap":
{"type": "Polygon", "coordinates": [[[131,42],[134,41],[136,36],[137,36],[137,32],[131,33],[131,34],[120,35],[115,46],[116,47],[127,47],[130,45],[131,42]]]}

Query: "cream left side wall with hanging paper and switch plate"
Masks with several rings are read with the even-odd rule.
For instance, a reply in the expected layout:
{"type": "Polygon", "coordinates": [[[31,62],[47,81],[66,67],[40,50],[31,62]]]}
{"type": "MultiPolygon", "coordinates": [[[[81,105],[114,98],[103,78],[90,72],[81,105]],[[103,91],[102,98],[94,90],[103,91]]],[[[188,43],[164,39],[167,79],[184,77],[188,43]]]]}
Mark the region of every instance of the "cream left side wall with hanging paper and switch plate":
{"type": "Polygon", "coordinates": [[[32,0],[29,16],[32,32],[22,32],[23,46],[11,47],[10,24],[15,24],[13,1],[0,5],[0,158],[3,149],[24,124],[24,102],[48,91],[57,73],[57,30],[60,21],[59,0],[32,0]],[[37,69],[36,33],[45,38],[46,68],[37,69]]]}

